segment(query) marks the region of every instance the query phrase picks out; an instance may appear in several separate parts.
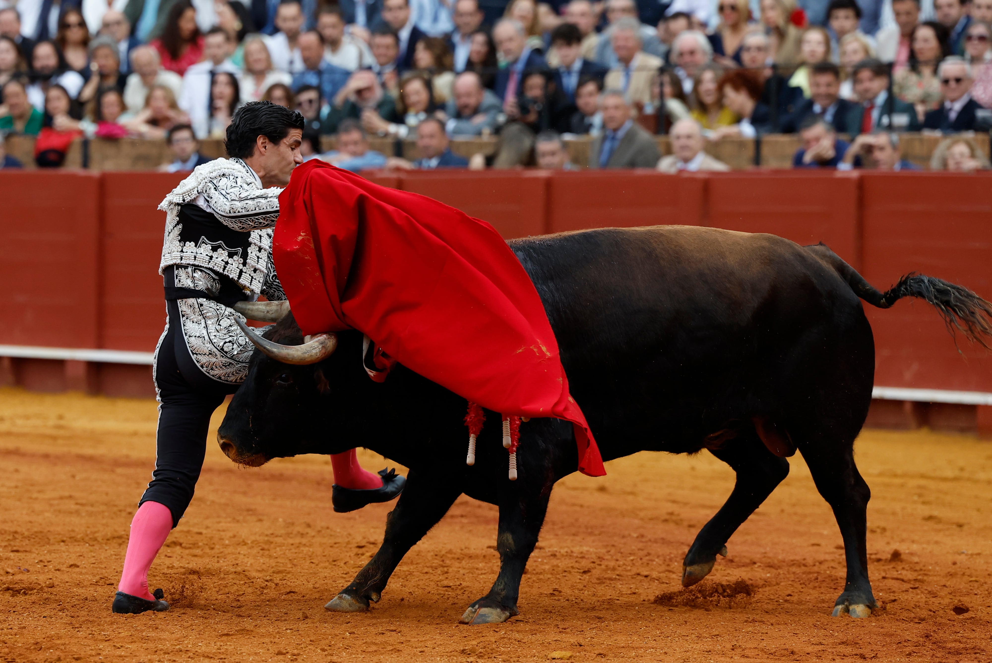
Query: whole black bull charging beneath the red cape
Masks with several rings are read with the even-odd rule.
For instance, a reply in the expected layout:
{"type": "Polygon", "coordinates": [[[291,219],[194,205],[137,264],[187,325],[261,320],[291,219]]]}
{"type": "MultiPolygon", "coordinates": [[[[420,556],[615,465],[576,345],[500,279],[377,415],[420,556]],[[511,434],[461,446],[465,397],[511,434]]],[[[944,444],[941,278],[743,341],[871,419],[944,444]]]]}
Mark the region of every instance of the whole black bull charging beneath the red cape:
{"type": "MultiPolygon", "coordinates": [[[[726,554],[730,536],[789,473],[785,457],[799,450],[844,541],[847,578],[834,614],[869,614],[871,493],[852,450],[871,401],[875,347],[859,297],[881,308],[923,298],[948,327],[980,342],[992,331],[992,306],[925,276],[905,277],[882,294],[825,246],[773,235],[656,226],[510,245],[544,301],[603,460],[706,448],[736,471],[726,503],[685,555],[682,585],[700,581],[726,554]]],[[[303,342],[292,316],[266,335],[303,342]]],[[[571,426],[524,423],[520,478],[511,481],[498,414],[486,413],[468,466],[465,400],[403,366],[373,382],[361,355],[358,331],[341,332],[337,351],[312,365],[255,352],[220,427],[221,448],[237,462],[262,464],[362,446],[410,468],[382,547],[327,609],[378,601],[406,552],[465,493],[499,506],[501,566],[462,621],[517,614],[552,487],[576,470],[571,426]]]]}

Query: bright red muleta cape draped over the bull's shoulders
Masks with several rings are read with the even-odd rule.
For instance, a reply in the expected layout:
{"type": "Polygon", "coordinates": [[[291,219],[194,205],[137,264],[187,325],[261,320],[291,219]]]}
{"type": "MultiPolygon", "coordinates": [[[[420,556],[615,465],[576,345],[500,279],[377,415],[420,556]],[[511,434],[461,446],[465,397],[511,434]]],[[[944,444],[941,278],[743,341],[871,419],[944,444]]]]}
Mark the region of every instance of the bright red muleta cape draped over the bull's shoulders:
{"type": "Polygon", "coordinates": [[[279,206],[273,259],[305,334],[362,331],[482,407],[570,421],[579,471],[606,473],[538,291],[491,225],[315,159],[279,206]]]}

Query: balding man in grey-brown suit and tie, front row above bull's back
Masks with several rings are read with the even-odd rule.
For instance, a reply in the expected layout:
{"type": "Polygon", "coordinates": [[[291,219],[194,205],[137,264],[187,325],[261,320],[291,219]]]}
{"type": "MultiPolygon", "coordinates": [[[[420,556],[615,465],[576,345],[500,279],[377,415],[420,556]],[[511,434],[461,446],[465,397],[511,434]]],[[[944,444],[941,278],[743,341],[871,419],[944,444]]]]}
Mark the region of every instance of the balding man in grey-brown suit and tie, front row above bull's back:
{"type": "Polygon", "coordinates": [[[662,158],[655,137],[631,118],[623,90],[603,92],[603,133],[592,141],[589,168],[655,168],[662,158]]]}

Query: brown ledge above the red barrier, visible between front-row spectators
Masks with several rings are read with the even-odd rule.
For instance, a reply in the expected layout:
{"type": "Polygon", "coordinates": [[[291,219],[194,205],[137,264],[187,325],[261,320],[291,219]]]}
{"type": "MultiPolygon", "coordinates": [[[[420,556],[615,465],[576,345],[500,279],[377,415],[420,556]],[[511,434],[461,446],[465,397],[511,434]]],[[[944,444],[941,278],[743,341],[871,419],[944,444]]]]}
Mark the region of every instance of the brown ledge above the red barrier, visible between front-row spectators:
{"type": "MultiPolygon", "coordinates": [[[[930,166],[930,156],[933,150],[943,140],[944,136],[933,134],[907,133],[901,134],[903,158],[911,163],[927,169],[930,166]]],[[[973,137],[979,147],[989,154],[988,134],[978,134],[973,137]]],[[[672,146],[668,136],[657,136],[659,151],[662,155],[672,154],[672,146]]],[[[589,147],[591,138],[576,138],[565,140],[571,163],[585,168],[589,163],[589,147]]],[[[397,152],[397,141],[391,138],[372,137],[369,140],[371,149],[393,156],[397,152]]],[[[760,138],[760,166],[763,168],[791,168],[793,156],[802,145],[802,139],[796,134],[772,134],[760,138]]],[[[321,140],[324,151],[334,149],[336,140],[326,136],[321,140]]],[[[463,157],[470,158],[476,154],[489,157],[499,151],[499,138],[455,139],[451,141],[451,151],[463,157]]],[[[7,153],[17,158],[27,169],[35,168],[35,140],[30,136],[7,137],[7,153]]],[[[417,143],[413,140],[399,141],[400,152],[407,159],[417,158],[417,143]]],[[[716,142],[707,142],[707,154],[719,159],[733,170],[749,170],[755,166],[756,140],[745,138],[725,138],[716,142]]],[[[200,143],[200,152],[207,157],[225,156],[223,141],[211,139],[200,143]]],[[[120,140],[76,140],[72,143],[65,158],[66,168],[87,168],[92,171],[150,171],[172,160],[169,147],[162,140],[145,140],[140,138],[123,138],[120,140]]]]}

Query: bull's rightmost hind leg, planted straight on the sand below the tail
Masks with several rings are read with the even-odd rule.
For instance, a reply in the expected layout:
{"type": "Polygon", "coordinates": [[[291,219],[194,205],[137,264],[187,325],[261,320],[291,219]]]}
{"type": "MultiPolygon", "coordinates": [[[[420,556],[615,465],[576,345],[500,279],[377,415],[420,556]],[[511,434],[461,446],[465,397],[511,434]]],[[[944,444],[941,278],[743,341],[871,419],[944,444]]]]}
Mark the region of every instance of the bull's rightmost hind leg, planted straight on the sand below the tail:
{"type": "Polygon", "coordinates": [[[830,446],[817,440],[812,445],[801,444],[800,451],[809,465],[816,489],[833,509],[844,540],[847,581],[843,594],[834,604],[833,616],[867,617],[875,609],[875,597],[868,581],[865,543],[871,489],[854,464],[853,442],[830,446]]]}

